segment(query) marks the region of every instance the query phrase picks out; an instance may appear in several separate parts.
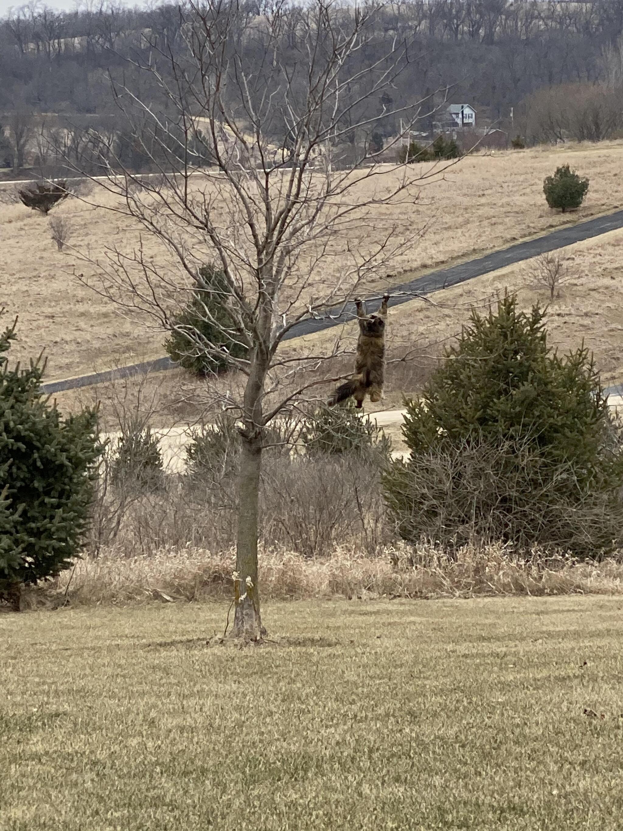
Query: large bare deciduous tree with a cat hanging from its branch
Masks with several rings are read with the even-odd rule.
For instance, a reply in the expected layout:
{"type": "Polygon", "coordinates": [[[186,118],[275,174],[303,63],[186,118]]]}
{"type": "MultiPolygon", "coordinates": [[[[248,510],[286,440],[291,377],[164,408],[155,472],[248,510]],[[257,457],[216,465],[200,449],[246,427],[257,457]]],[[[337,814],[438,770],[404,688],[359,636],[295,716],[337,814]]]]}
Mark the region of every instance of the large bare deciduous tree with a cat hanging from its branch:
{"type": "MultiPolygon", "coordinates": [[[[135,150],[157,177],[143,177],[136,189],[115,140],[99,136],[108,173],[102,186],[120,197],[113,209],[164,253],[154,257],[143,244],[132,253],[110,250],[96,263],[95,282],[83,279],[170,331],[200,269],[213,263],[223,275],[213,291],[228,311],[223,340],[244,347],[243,356],[228,355],[232,380],[208,385],[214,403],[237,417],[242,441],[238,637],[263,632],[258,492],[267,425],[344,377],[326,364],[346,354],[339,336],[328,349],[293,351],[283,342],[302,322],[350,309],[351,297],[378,289],[387,263],[418,235],[399,228],[400,204],[412,204],[423,180],[441,170],[382,164],[366,138],[388,116],[409,130],[426,115],[418,101],[391,106],[383,95],[410,63],[409,42],[395,38],[365,69],[356,60],[378,37],[382,9],[312,0],[305,9],[276,2],[257,13],[235,2],[190,0],[180,9],[175,48],[155,41],[148,62],[136,59],[135,69],[150,76],[150,98],[114,86],[135,150]]],[[[223,328],[212,307],[205,304],[206,320],[223,328]]],[[[189,348],[222,361],[222,343],[199,330],[184,335],[189,348]]]]}

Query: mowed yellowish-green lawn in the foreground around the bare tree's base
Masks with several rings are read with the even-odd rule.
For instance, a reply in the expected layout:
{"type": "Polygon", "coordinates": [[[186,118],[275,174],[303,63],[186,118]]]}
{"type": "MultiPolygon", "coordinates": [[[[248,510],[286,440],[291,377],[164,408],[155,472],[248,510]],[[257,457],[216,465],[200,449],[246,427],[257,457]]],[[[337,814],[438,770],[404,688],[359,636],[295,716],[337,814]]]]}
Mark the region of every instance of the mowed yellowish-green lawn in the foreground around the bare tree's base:
{"type": "Polygon", "coordinates": [[[271,604],[243,650],[216,604],[2,615],[0,828],[621,829],[622,611],[271,604]]]}

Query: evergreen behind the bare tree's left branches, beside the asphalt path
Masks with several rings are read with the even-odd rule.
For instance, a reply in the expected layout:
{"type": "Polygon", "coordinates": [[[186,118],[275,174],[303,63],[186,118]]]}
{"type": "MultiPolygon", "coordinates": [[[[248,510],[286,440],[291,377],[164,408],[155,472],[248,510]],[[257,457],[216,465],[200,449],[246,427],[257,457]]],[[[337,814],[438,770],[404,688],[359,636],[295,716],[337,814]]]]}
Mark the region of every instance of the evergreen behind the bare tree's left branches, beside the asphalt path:
{"type": "Polygon", "coordinates": [[[207,375],[227,369],[230,358],[244,357],[248,350],[228,311],[229,288],[223,272],[206,265],[200,279],[188,306],[174,318],[164,347],[184,369],[207,375]]]}

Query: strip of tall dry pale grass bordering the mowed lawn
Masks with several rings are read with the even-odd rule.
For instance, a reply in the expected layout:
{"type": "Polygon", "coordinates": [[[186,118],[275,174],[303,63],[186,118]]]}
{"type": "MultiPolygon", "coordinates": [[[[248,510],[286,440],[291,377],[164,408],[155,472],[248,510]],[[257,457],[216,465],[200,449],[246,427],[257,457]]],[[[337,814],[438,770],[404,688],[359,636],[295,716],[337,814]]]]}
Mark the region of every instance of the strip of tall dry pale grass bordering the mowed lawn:
{"type": "MultiPolygon", "coordinates": [[[[30,590],[25,607],[200,601],[232,593],[233,551],[169,548],[127,558],[110,550],[30,590]]],[[[464,546],[454,558],[432,545],[399,544],[378,557],[336,548],[306,559],[287,549],[261,553],[262,597],[300,600],[332,597],[475,597],[493,595],[621,594],[623,563],[577,563],[534,551],[517,558],[503,545],[464,546]]]]}

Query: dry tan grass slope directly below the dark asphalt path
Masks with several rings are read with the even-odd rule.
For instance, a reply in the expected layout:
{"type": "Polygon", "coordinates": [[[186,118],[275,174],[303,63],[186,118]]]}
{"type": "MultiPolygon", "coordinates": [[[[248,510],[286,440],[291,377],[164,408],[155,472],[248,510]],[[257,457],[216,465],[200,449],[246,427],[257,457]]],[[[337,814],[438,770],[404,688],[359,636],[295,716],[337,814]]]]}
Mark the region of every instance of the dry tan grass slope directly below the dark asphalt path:
{"type": "MultiPolygon", "coordinates": [[[[605,386],[623,381],[623,229],[567,246],[560,252],[569,277],[562,283],[553,302],[547,290],[533,285],[533,263],[527,260],[508,268],[475,278],[460,286],[434,293],[431,302],[414,300],[390,309],[388,345],[390,363],[385,383],[385,397],[378,404],[365,403],[365,412],[394,410],[402,406],[404,396],[419,389],[431,369],[443,355],[444,347],[468,320],[471,308],[485,312],[489,303],[505,290],[518,293],[522,307],[532,303],[549,303],[547,327],[552,348],[569,352],[584,342],[594,353],[605,386]],[[391,363],[392,356],[413,349],[408,363],[391,363]]],[[[313,337],[289,342],[284,347],[299,354],[331,352],[339,338],[341,346],[354,350],[356,324],[321,332],[313,337]]],[[[342,358],[335,371],[348,371],[350,358],[342,358]]],[[[335,362],[334,362],[335,367],[335,362]]],[[[334,369],[327,369],[328,374],[334,369]]],[[[233,388],[235,376],[226,384],[233,388]]],[[[328,387],[321,386],[324,398],[328,387]]],[[[184,371],[154,373],[142,380],[115,381],[56,396],[61,409],[101,402],[105,429],[115,430],[115,411],[135,406],[140,391],[143,409],[153,411],[150,422],[158,427],[192,422],[206,416],[208,396],[204,381],[194,381],[184,371]]],[[[208,407],[209,410],[209,407],[208,407]]],[[[385,433],[400,450],[401,419],[383,425],[385,433]]]]}

